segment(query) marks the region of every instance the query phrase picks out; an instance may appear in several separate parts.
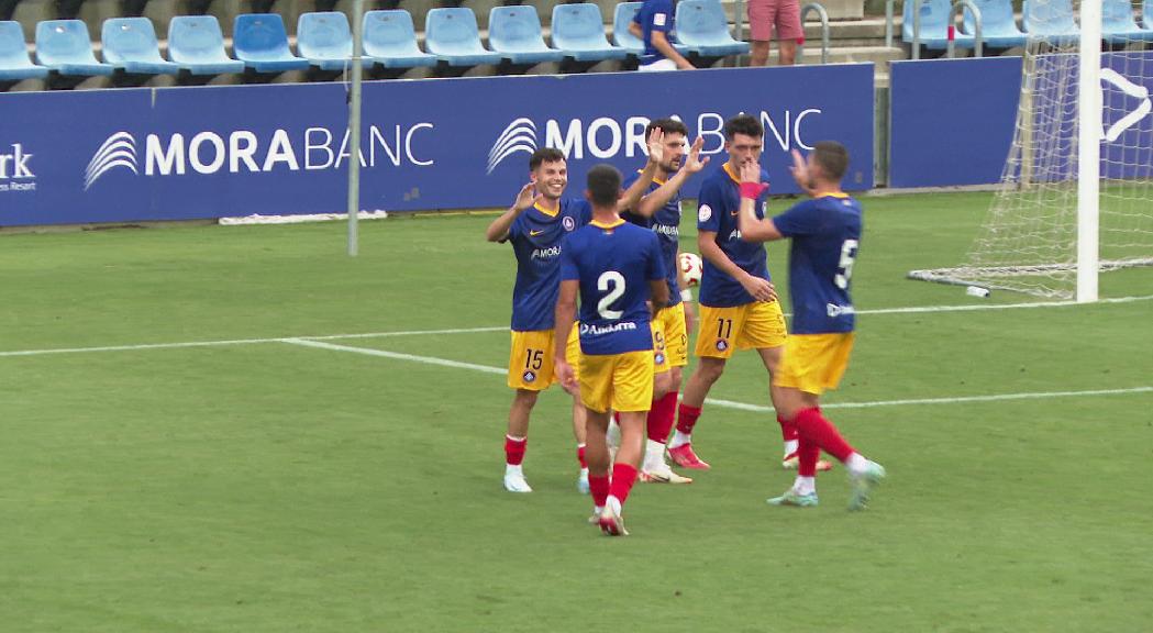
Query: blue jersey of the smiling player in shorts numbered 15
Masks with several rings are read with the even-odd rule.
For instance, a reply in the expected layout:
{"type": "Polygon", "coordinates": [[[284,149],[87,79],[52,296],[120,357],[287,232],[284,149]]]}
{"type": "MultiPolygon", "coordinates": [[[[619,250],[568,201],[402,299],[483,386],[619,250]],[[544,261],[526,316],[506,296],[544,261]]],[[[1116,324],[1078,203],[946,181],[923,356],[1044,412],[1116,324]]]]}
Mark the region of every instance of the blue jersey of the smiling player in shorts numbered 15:
{"type": "Polygon", "coordinates": [[[512,329],[551,330],[560,293],[562,239],[593,219],[580,198],[562,198],[556,212],[533,205],[517,216],[507,240],[517,254],[517,285],[512,291],[512,329]]]}

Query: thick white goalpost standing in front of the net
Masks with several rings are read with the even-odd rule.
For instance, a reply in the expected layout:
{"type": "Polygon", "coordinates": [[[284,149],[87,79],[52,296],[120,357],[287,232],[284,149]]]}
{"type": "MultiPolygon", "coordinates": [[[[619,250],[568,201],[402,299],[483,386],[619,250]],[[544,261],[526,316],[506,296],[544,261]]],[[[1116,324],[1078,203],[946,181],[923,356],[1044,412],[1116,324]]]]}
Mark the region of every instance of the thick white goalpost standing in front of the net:
{"type": "Polygon", "coordinates": [[[1082,0],[1078,85],[1077,301],[1097,301],[1101,183],[1101,0],[1082,0]]]}

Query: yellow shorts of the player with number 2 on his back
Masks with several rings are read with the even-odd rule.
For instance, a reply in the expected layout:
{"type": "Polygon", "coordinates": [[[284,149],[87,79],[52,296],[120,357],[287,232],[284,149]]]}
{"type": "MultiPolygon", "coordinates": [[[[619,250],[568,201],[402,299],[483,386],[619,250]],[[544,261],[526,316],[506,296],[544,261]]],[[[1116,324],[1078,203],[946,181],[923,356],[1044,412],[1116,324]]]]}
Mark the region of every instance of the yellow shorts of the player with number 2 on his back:
{"type": "Polygon", "coordinates": [[[580,397],[604,413],[649,410],[653,406],[653,351],[580,357],[580,397]]]}

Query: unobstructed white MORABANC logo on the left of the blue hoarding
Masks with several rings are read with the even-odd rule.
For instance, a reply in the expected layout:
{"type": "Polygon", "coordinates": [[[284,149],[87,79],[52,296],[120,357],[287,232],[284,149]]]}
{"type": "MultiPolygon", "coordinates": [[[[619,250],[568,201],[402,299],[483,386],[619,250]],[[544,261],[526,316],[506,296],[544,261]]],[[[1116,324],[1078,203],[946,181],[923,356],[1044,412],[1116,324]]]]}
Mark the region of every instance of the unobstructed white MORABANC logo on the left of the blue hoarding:
{"type": "MultiPolygon", "coordinates": [[[[378,165],[430,166],[427,134],[432,123],[369,126],[360,152],[361,167],[378,165]],[[422,144],[423,142],[423,144],[422,144]]],[[[140,142],[128,131],[116,131],[92,155],[84,173],[84,189],[116,169],[145,176],[211,175],[226,173],[272,173],[339,169],[349,158],[348,130],[311,127],[303,130],[276,129],[261,136],[251,130],[184,134],[148,134],[143,157],[140,142]],[[339,138],[339,142],[338,142],[339,138]]]]}

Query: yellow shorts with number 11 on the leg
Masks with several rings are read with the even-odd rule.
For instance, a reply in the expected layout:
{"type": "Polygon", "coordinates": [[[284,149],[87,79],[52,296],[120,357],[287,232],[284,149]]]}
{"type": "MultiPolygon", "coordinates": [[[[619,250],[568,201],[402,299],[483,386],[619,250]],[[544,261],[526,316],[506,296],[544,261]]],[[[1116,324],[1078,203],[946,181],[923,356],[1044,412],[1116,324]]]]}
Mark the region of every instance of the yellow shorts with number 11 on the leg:
{"type": "Polygon", "coordinates": [[[776,301],[754,301],[732,308],[701,306],[696,355],[728,359],[737,349],[781,347],[789,339],[785,315],[776,301]]]}

